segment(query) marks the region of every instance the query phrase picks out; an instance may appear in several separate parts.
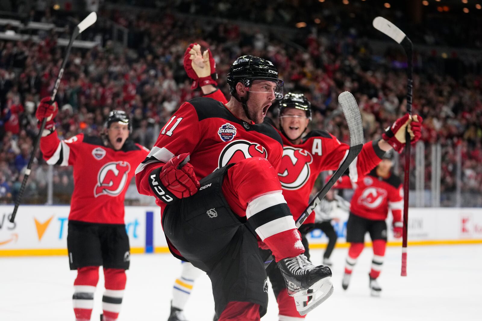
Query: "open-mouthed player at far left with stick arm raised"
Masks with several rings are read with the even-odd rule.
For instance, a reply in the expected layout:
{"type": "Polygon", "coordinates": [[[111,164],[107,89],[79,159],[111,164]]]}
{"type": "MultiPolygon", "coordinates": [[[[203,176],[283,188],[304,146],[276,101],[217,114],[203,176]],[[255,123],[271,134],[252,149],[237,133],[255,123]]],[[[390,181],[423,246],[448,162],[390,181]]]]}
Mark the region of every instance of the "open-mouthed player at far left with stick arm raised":
{"type": "Polygon", "coordinates": [[[104,267],[106,291],[101,321],[117,320],[129,268],[130,247],[124,225],[124,196],[134,168],[148,154],[130,140],[129,117],[114,110],[101,137],[78,134],[59,140],[54,118],[57,103],[40,101],[36,117],[47,118],[40,139],[43,158],[50,165],[74,167],[74,192],[68,216],[67,249],[70,270],[77,270],[73,305],[77,321],[88,321],[94,307],[99,266],[104,267]]]}

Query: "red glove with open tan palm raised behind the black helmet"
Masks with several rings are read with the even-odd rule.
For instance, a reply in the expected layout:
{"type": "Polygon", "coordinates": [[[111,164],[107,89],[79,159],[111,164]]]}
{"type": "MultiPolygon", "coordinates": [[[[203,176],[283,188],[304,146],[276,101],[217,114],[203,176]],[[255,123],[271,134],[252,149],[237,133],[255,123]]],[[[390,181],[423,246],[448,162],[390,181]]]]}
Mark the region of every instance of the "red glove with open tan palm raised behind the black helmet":
{"type": "Polygon", "coordinates": [[[217,86],[216,63],[209,49],[201,54],[201,46],[191,43],[184,53],[184,69],[187,76],[193,80],[191,89],[206,85],[217,86]]]}

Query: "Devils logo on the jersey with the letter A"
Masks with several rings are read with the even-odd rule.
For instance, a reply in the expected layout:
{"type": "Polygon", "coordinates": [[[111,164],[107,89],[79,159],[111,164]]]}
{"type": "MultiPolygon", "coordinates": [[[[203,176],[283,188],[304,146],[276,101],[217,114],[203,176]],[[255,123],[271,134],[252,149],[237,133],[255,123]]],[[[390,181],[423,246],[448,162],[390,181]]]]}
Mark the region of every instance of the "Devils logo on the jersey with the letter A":
{"type": "Polygon", "coordinates": [[[313,156],[301,148],[286,146],[283,148],[278,178],[281,186],[287,190],[296,190],[305,185],[309,179],[309,164],[313,156]]]}

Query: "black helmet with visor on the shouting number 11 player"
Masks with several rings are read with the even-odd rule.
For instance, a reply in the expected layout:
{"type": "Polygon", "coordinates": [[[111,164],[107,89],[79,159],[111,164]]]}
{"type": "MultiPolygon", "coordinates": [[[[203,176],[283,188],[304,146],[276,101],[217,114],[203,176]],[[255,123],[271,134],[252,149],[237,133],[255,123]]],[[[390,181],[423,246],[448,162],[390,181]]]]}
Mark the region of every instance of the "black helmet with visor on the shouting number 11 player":
{"type": "Polygon", "coordinates": [[[274,81],[277,84],[275,98],[283,98],[283,81],[278,78],[278,69],[269,60],[255,56],[241,56],[231,64],[228,70],[229,92],[238,99],[236,84],[242,82],[245,87],[251,87],[255,79],[274,81]]]}

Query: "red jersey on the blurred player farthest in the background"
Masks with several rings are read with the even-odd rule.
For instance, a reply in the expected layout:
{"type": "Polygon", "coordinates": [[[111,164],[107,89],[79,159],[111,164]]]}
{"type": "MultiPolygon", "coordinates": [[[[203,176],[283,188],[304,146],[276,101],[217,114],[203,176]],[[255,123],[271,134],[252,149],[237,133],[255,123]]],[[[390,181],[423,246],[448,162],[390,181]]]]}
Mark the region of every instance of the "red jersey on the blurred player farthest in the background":
{"type": "Polygon", "coordinates": [[[373,220],[384,220],[391,209],[393,221],[402,221],[402,180],[391,173],[388,178],[376,174],[376,168],[358,180],[353,193],[350,211],[356,216],[373,220]]]}

